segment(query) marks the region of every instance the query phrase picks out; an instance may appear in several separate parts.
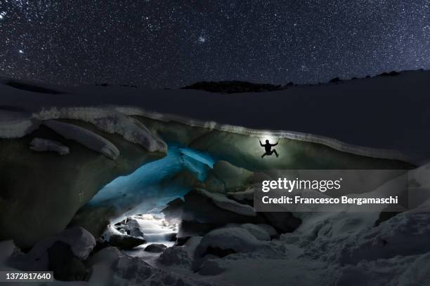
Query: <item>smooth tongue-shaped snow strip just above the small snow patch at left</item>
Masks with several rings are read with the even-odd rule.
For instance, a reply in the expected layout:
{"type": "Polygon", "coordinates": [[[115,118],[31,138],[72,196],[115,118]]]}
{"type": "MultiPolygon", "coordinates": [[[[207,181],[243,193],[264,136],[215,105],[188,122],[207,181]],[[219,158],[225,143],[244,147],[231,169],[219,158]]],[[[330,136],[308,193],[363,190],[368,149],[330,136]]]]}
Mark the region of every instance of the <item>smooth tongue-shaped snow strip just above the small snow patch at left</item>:
{"type": "Polygon", "coordinates": [[[85,147],[115,160],[119,156],[119,150],[107,139],[90,130],[60,121],[44,121],[46,127],[51,128],[66,139],[74,140],[85,147]]]}

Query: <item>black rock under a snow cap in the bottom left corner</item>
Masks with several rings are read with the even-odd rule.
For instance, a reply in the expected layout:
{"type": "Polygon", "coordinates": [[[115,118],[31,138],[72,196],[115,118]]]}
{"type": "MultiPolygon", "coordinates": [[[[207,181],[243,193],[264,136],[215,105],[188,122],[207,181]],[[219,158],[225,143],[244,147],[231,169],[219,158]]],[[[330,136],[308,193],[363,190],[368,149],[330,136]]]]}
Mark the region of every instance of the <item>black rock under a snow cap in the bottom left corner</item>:
{"type": "Polygon", "coordinates": [[[48,249],[49,271],[53,271],[56,280],[77,281],[84,280],[87,274],[82,261],[71,250],[70,245],[56,241],[48,249]]]}

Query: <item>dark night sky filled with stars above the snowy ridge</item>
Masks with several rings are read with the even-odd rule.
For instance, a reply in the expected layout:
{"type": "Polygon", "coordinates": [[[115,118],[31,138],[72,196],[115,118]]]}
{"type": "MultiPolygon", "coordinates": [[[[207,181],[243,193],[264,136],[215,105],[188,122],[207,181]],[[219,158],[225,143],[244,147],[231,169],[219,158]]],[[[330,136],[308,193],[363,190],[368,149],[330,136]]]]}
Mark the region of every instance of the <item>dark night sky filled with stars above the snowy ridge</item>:
{"type": "Polygon", "coordinates": [[[0,74],[316,83],[430,68],[430,0],[0,0],[0,74]]]}

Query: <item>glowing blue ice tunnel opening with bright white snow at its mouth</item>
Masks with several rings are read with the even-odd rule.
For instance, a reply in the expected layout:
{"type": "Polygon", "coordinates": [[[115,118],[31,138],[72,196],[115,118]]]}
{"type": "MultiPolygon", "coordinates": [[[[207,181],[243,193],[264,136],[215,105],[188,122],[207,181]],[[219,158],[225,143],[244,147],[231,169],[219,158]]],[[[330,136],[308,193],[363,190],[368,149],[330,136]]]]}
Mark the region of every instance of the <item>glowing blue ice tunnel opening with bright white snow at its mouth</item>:
{"type": "Polygon", "coordinates": [[[115,207],[119,215],[112,219],[111,224],[121,222],[126,217],[141,216],[144,219],[141,221],[142,231],[146,233],[148,243],[171,246],[163,236],[169,234],[172,228],[159,224],[158,218],[162,216],[160,210],[169,201],[181,198],[193,189],[189,175],[204,182],[207,170],[213,168],[214,163],[214,158],[207,153],[169,144],[167,156],[113,180],[98,191],[87,205],[115,207]]]}

